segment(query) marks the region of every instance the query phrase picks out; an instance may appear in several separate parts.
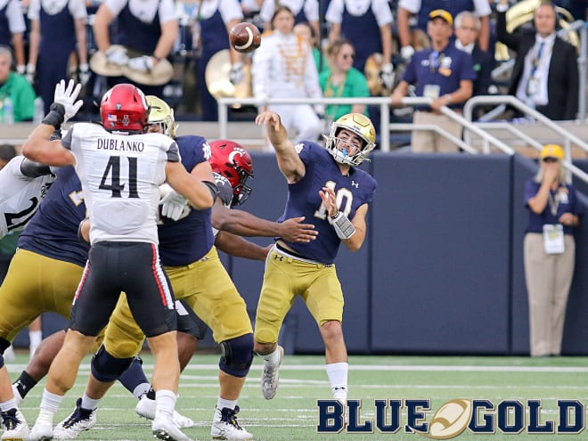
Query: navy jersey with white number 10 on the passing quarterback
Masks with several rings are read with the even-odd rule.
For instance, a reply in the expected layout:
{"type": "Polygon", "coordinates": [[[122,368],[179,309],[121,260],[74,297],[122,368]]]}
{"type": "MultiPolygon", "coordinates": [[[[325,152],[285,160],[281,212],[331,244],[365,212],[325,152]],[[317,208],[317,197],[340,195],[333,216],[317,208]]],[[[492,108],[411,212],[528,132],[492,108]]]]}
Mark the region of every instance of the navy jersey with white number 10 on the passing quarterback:
{"type": "Polygon", "coordinates": [[[323,187],[331,187],[337,195],[339,211],[353,219],[357,208],[372,202],[378,184],[372,176],[356,167],[351,167],[349,175],[341,175],[335,159],[316,143],[305,141],[299,143],[297,149],[306,173],[298,183],[288,185],[286,208],[278,222],[290,217],[306,216],[306,222],[314,224],[319,232],[316,240],[286,243],[300,256],[331,264],[337,256],[341,240],[328,221],[319,192],[323,187]]]}

